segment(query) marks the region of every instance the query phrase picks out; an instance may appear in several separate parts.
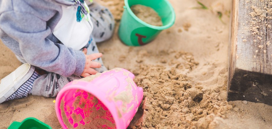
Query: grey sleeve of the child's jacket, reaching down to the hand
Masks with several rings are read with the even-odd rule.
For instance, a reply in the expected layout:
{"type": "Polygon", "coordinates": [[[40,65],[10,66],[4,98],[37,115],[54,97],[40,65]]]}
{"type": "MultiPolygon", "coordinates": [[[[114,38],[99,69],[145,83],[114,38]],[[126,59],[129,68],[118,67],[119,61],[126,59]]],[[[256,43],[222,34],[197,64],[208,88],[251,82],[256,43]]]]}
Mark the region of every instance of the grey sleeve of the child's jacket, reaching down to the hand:
{"type": "Polygon", "coordinates": [[[27,63],[66,77],[82,74],[85,67],[83,52],[49,40],[47,36],[52,30],[46,21],[30,13],[6,11],[0,15],[0,28],[19,42],[27,63]]]}

